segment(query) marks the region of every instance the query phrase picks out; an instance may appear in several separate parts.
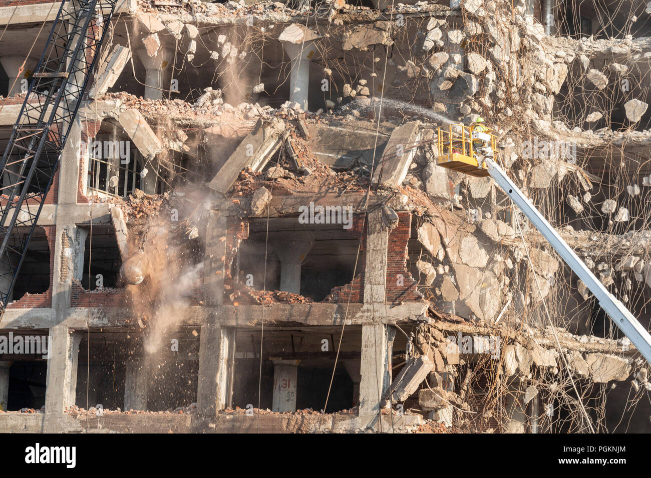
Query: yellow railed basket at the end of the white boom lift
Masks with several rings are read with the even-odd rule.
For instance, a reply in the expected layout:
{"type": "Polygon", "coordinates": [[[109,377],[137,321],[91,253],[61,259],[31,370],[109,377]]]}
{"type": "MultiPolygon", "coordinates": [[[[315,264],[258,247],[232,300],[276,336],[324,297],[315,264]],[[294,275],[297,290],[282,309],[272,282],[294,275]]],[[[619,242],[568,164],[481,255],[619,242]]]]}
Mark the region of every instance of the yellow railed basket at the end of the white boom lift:
{"type": "Polygon", "coordinates": [[[482,165],[479,165],[475,148],[480,144],[490,144],[493,155],[495,155],[495,136],[490,133],[492,130],[474,131],[472,127],[450,124],[438,127],[436,131],[438,137],[437,165],[478,178],[488,176],[486,163],[482,162],[482,165]]]}

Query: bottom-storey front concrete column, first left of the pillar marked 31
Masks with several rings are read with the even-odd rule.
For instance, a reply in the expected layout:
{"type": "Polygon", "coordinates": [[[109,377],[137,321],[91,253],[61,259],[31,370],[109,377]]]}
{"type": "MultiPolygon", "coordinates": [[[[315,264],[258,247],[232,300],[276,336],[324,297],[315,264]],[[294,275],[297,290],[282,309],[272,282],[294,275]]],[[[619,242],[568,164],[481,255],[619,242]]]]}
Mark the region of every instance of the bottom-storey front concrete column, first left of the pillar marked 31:
{"type": "MultiPolygon", "coordinates": [[[[229,392],[229,351],[234,354],[235,328],[215,323],[201,326],[199,341],[199,413],[215,415],[226,408],[229,392]]],[[[232,357],[234,359],[234,357],[232,357]]],[[[234,380],[234,377],[232,378],[234,380]]]]}

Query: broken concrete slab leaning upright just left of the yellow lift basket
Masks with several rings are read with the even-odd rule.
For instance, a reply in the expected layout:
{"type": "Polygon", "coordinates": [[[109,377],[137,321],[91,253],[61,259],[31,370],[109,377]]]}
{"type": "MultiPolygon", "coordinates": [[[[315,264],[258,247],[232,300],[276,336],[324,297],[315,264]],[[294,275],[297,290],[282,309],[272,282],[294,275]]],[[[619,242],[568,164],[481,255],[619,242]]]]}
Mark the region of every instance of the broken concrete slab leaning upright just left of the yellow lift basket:
{"type": "Polygon", "coordinates": [[[394,189],[402,185],[409,166],[417,154],[421,137],[419,121],[411,121],[396,127],[373,173],[372,184],[394,189]]]}

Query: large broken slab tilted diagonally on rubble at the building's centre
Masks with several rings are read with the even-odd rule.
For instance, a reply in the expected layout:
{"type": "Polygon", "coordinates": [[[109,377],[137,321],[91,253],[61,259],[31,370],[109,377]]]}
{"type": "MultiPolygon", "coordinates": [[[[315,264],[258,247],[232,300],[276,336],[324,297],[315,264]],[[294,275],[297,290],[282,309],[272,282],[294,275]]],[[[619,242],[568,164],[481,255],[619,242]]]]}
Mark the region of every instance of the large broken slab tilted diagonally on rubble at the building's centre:
{"type": "Polygon", "coordinates": [[[254,171],[260,171],[271,159],[271,156],[283,144],[284,122],[273,121],[263,125],[259,121],[253,131],[242,140],[237,149],[230,155],[225,165],[210,181],[210,189],[226,194],[233,183],[237,181],[247,166],[254,171]]]}

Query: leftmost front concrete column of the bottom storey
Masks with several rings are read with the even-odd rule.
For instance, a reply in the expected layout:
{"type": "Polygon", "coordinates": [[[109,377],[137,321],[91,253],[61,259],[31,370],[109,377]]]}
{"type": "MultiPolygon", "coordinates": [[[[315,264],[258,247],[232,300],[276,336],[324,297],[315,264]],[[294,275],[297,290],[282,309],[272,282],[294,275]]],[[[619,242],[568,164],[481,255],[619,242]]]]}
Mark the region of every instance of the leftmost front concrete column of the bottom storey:
{"type": "Polygon", "coordinates": [[[51,357],[45,393],[45,431],[60,431],[59,419],[66,406],[75,405],[77,394],[77,364],[81,332],[56,325],[49,330],[51,357]]]}

